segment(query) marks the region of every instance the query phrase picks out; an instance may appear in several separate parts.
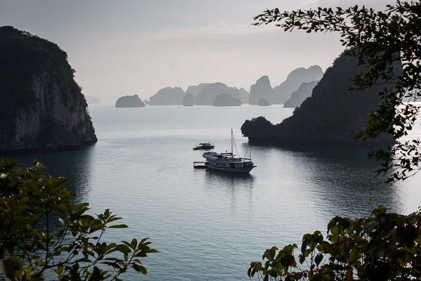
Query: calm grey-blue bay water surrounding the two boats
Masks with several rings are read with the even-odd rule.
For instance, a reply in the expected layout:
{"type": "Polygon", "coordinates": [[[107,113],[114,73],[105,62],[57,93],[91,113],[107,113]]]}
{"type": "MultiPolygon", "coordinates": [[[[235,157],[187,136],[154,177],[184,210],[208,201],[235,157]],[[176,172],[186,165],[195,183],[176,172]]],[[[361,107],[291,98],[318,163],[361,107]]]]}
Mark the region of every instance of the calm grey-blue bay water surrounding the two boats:
{"type": "MultiPolygon", "coordinates": [[[[250,175],[193,169],[202,142],[229,149],[231,128],[244,156],[241,124],[265,116],[276,124],[292,114],[281,105],[258,107],[90,107],[98,143],[81,150],[16,157],[34,159],[89,202],[128,224],[109,240],[150,237],[161,251],[142,262],[147,275],[125,280],[247,280],[250,261],[272,246],[300,243],[324,231],[333,216],[369,216],[383,205],[409,214],[421,205],[420,176],[394,185],[373,178],[366,149],[252,144],[258,166],[250,175]]],[[[417,133],[417,132],[415,132],[417,133]]]]}

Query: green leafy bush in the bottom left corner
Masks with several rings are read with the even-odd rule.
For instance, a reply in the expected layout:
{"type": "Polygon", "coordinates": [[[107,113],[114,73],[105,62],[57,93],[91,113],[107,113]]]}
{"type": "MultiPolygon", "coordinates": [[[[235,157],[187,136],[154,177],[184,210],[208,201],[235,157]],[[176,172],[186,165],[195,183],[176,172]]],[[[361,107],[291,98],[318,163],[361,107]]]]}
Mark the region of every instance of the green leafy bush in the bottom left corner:
{"type": "MultiPolygon", "coordinates": [[[[34,161],[21,169],[0,159],[0,269],[9,280],[120,280],[127,270],[146,274],[138,259],[151,249],[144,238],[102,242],[102,235],[121,218],[109,209],[88,214],[88,203],[76,204],[65,188],[34,161]]],[[[1,273],[0,273],[1,279],[1,273]]]]}

